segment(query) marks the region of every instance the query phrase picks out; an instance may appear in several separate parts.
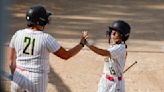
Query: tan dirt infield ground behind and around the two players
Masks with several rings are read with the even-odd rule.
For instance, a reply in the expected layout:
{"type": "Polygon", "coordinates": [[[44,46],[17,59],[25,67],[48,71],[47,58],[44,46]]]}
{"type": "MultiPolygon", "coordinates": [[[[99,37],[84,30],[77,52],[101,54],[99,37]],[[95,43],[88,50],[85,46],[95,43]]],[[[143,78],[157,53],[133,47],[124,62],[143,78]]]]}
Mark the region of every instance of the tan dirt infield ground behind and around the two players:
{"type": "MultiPolygon", "coordinates": [[[[89,31],[89,39],[96,46],[108,48],[105,30],[109,24],[118,19],[129,22],[132,31],[126,67],[138,63],[124,74],[126,92],[164,92],[164,1],[14,0],[8,7],[8,41],[16,30],[26,26],[26,10],[38,3],[54,14],[46,32],[67,49],[78,44],[83,30],[89,31]]],[[[103,60],[87,47],[68,61],[51,54],[47,92],[96,92],[103,60]]]]}

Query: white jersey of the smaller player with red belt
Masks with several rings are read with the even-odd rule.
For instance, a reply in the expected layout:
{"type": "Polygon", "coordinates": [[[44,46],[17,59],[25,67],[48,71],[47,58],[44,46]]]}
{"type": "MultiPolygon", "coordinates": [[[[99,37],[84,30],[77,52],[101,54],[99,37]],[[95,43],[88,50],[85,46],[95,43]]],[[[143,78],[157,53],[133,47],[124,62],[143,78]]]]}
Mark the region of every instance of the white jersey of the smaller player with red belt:
{"type": "Polygon", "coordinates": [[[108,58],[104,64],[104,74],[113,77],[122,76],[126,60],[125,44],[112,45],[108,50],[111,58],[108,58]]]}

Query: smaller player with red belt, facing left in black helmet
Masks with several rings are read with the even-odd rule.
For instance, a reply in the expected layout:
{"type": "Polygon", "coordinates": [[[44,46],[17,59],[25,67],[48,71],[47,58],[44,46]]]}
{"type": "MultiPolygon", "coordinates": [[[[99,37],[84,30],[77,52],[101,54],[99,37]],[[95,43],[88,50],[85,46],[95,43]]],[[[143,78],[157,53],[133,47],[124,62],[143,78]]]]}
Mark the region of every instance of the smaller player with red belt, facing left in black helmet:
{"type": "Polygon", "coordinates": [[[126,44],[125,41],[129,38],[130,25],[122,20],[117,20],[109,27],[107,35],[109,43],[112,43],[110,48],[100,49],[90,43],[86,45],[95,53],[105,56],[105,64],[103,75],[98,85],[98,92],[124,92],[123,70],[126,61],[126,44]]]}

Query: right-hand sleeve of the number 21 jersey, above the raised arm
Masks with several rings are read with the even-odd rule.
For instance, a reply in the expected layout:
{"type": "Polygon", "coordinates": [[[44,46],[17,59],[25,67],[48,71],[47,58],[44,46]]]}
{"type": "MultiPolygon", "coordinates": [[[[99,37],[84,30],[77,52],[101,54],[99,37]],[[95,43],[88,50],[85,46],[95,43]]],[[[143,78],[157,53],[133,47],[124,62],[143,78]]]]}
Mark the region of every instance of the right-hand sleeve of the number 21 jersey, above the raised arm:
{"type": "Polygon", "coordinates": [[[46,39],[46,47],[49,52],[56,52],[60,49],[60,44],[51,35],[48,35],[46,39]]]}

